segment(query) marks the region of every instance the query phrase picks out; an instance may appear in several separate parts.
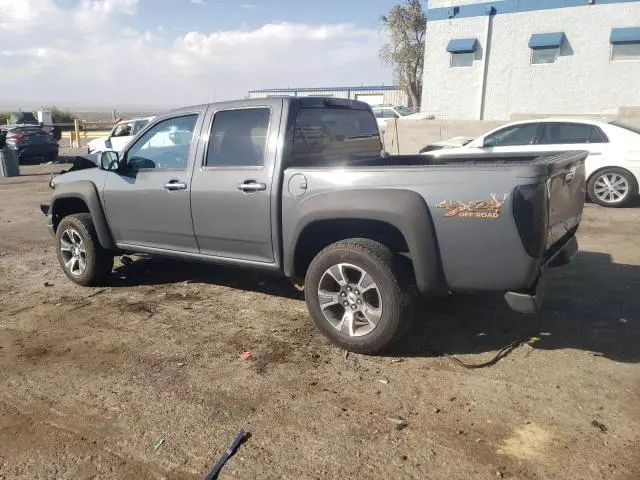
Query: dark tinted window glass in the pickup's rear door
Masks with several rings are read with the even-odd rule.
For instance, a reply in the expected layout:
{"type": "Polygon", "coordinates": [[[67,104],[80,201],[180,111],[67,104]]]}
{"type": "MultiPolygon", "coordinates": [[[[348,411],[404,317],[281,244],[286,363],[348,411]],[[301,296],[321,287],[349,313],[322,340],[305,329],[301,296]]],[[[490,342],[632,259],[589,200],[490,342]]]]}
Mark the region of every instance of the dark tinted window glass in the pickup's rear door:
{"type": "Polygon", "coordinates": [[[217,112],[213,118],[205,166],[262,166],[270,118],[271,110],[268,108],[217,112]]]}

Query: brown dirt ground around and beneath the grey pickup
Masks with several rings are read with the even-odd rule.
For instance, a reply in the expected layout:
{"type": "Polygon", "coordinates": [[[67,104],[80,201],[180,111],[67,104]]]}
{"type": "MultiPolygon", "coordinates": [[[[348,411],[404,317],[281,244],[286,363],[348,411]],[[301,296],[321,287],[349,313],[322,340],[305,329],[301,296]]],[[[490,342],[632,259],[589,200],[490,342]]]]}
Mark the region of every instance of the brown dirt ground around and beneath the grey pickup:
{"type": "Polygon", "coordinates": [[[640,208],[586,206],[538,317],[453,295],[344,358],[278,278],[134,257],[73,285],[38,208],[59,168],[0,179],[0,479],[198,479],[241,428],[221,479],[640,478],[640,208]]]}

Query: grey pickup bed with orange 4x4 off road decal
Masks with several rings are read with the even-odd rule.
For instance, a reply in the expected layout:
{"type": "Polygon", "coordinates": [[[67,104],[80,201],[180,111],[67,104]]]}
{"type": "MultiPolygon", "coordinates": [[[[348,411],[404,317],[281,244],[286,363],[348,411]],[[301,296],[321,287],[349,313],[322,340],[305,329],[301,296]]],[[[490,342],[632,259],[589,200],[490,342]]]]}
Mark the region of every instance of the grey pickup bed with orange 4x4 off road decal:
{"type": "Polygon", "coordinates": [[[426,285],[417,278],[421,290],[526,289],[537,281],[557,244],[578,228],[585,158],[586,152],[413,155],[291,167],[283,182],[283,247],[287,251],[318,206],[335,214],[347,204],[353,218],[367,218],[368,212],[414,195],[426,206],[427,218],[405,210],[405,228],[413,232],[427,225],[416,234],[427,238],[417,242],[433,245],[442,272],[437,280],[425,277],[426,285]]]}

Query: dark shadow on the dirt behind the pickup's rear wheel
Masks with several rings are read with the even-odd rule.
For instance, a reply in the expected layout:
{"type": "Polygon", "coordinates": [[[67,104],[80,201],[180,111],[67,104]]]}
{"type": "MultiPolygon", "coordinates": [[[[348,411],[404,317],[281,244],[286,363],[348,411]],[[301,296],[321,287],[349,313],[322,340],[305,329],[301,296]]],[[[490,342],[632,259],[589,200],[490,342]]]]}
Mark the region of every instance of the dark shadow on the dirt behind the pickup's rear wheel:
{"type": "Polygon", "coordinates": [[[580,252],[547,272],[546,297],[535,316],[511,311],[500,295],[455,294],[420,303],[397,356],[495,352],[537,337],[536,349],[580,349],[618,362],[640,362],[640,267],[580,252]]]}

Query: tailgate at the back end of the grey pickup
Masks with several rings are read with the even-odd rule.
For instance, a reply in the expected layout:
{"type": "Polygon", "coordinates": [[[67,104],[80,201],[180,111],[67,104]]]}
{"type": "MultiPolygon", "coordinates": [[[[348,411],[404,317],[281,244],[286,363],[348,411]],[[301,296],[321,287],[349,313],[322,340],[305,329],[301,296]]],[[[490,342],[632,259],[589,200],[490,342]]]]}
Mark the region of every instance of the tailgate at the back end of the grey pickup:
{"type": "Polygon", "coordinates": [[[567,152],[539,159],[549,165],[547,198],[549,225],[546,249],[549,250],[563,237],[573,234],[582,218],[587,152],[567,152]]]}

